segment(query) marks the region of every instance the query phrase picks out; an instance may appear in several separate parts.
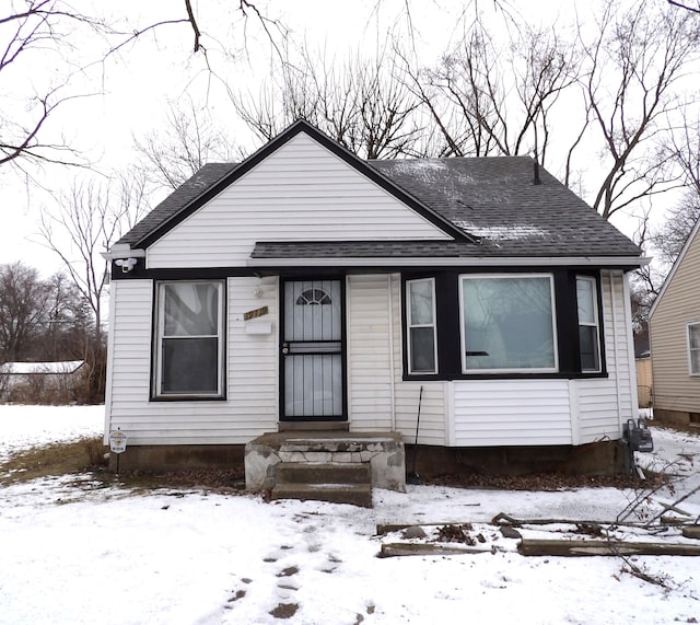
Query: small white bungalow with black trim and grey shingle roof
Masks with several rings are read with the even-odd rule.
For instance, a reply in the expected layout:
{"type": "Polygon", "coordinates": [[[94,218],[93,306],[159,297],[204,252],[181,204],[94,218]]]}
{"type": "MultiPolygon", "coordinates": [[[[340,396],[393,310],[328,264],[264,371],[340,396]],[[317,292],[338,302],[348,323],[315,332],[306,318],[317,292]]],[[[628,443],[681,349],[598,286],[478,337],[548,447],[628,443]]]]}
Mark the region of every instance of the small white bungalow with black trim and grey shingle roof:
{"type": "MultiPolygon", "coordinates": [[[[358,461],[417,440],[422,473],[623,463],[644,259],[530,158],[363,161],[298,121],[205,166],[109,257],[124,468],[247,445],[267,486],[279,441],[301,458],[319,430],[358,461]]],[[[400,488],[402,454],[381,462],[400,488]]]]}

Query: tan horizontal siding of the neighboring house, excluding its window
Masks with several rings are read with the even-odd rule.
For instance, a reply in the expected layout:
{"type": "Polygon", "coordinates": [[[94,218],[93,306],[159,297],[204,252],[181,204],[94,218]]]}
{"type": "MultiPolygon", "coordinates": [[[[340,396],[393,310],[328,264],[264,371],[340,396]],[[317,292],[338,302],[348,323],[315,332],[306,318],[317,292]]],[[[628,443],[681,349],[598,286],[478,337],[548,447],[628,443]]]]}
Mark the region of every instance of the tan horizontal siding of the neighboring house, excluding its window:
{"type": "Polygon", "coordinates": [[[654,408],[700,413],[700,377],[691,377],[688,329],[700,322],[700,229],[666,285],[650,320],[654,408]]]}

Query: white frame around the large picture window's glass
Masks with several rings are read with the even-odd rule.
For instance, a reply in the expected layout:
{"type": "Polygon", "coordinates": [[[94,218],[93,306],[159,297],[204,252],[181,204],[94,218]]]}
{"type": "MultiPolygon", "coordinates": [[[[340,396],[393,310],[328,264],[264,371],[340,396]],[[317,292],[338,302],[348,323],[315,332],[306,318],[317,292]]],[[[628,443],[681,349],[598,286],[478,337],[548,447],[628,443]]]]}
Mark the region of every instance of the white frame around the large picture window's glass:
{"type": "Polygon", "coordinates": [[[459,343],[460,343],[460,363],[462,373],[465,375],[500,375],[500,374],[541,374],[541,373],[559,373],[559,336],[557,331],[557,298],[555,289],[555,276],[549,273],[498,273],[498,274],[459,274],[457,280],[457,288],[459,291],[459,343]],[[488,280],[501,280],[501,279],[530,279],[530,278],[547,278],[549,280],[549,302],[550,302],[550,319],[551,319],[551,337],[552,337],[552,367],[533,367],[533,368],[489,368],[489,369],[469,369],[467,367],[467,345],[466,345],[466,332],[465,332],[465,301],[464,301],[464,282],[465,280],[475,279],[488,279],[488,280]]]}

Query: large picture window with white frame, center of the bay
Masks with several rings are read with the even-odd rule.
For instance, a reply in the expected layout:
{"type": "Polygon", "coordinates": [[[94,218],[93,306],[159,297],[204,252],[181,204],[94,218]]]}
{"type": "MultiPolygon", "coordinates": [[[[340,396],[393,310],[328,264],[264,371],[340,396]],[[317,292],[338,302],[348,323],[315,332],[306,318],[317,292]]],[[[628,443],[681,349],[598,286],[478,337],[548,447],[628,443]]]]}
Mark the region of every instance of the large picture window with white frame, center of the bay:
{"type": "Polygon", "coordinates": [[[557,371],[550,275],[459,279],[465,373],[557,371]]]}

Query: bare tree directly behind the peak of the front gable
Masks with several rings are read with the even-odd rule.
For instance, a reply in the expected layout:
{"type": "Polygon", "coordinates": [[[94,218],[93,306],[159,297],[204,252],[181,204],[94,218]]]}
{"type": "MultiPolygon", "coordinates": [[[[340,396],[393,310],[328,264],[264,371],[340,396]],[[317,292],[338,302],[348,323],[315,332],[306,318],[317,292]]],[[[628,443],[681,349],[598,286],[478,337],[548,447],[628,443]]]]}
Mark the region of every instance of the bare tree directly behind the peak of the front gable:
{"type": "Polygon", "coordinates": [[[362,158],[416,153],[419,102],[398,80],[395,58],[383,50],[373,59],[351,54],[342,65],[308,48],[299,56],[288,50],[259,94],[232,92],[232,102],[266,140],[301,118],[362,158]]]}

